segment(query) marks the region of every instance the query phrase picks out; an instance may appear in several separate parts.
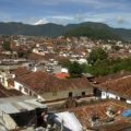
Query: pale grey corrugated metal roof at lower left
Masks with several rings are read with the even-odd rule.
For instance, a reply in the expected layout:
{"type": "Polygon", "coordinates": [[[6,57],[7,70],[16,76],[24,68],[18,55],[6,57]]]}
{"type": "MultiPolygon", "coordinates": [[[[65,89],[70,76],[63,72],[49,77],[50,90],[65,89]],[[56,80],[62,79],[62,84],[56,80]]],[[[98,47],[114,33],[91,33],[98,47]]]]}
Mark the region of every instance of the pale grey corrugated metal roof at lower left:
{"type": "Polygon", "coordinates": [[[0,99],[0,110],[4,114],[17,114],[21,112],[23,109],[34,110],[38,107],[47,108],[46,105],[43,105],[36,100],[37,99],[33,97],[26,97],[26,99],[24,99],[23,96],[16,98],[2,98],[0,99]]]}

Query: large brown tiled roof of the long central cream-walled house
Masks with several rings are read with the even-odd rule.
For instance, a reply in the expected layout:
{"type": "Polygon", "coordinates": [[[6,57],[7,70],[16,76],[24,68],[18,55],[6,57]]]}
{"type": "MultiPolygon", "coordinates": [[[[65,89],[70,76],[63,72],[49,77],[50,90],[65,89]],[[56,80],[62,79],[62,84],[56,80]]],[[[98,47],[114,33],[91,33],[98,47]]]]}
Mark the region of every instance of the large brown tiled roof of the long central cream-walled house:
{"type": "Polygon", "coordinates": [[[90,82],[85,78],[60,80],[40,71],[19,76],[16,81],[25,84],[39,94],[43,94],[44,92],[64,91],[69,88],[91,87],[90,82]]]}

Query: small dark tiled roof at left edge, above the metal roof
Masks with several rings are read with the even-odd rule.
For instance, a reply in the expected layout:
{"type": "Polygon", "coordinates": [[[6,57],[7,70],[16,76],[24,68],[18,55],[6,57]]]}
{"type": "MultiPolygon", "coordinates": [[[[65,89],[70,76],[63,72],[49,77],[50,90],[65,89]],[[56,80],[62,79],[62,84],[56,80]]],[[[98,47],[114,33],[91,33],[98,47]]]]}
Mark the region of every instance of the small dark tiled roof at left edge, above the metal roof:
{"type": "Polygon", "coordinates": [[[2,97],[9,97],[9,96],[20,96],[22,95],[19,91],[16,90],[7,90],[0,84],[0,98],[2,97]]]}

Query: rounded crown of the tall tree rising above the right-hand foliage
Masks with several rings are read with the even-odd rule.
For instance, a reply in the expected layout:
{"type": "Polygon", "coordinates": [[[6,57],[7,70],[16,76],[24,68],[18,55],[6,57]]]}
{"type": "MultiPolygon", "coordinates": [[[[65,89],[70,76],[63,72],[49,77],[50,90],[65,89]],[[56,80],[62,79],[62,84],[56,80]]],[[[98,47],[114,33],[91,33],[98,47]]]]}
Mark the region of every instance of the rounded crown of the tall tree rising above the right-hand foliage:
{"type": "Polygon", "coordinates": [[[90,64],[94,64],[97,60],[105,60],[108,58],[108,53],[102,48],[93,49],[90,53],[87,61],[90,64]]]}

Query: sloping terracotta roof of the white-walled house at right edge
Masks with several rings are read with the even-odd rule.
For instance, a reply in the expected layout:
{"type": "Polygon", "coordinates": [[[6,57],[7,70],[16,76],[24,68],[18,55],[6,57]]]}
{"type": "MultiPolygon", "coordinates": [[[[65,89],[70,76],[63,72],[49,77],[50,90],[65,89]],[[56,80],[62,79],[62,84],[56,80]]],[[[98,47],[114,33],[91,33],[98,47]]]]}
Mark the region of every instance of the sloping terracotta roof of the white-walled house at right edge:
{"type": "Polygon", "coordinates": [[[108,92],[118,94],[123,98],[131,98],[131,75],[106,81],[105,83],[98,84],[97,87],[104,91],[108,90],[108,92]]]}

